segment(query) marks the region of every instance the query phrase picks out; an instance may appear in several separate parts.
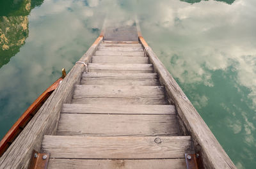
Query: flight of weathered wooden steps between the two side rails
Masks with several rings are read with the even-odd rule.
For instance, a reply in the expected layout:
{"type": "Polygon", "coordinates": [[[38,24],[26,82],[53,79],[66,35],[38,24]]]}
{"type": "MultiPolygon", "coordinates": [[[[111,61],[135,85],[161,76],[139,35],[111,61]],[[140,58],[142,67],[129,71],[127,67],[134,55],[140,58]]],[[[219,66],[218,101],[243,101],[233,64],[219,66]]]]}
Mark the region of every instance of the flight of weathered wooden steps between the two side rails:
{"type": "Polygon", "coordinates": [[[51,169],[184,169],[195,153],[138,41],[100,43],[41,151],[51,169]]]}

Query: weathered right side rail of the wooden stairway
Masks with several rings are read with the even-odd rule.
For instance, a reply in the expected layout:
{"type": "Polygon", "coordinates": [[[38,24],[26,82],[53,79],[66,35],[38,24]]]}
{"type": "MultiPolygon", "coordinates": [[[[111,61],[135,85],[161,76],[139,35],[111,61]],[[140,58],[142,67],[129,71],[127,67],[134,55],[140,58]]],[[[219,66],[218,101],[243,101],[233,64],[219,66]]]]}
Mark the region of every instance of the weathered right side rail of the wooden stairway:
{"type": "MultiPolygon", "coordinates": [[[[142,37],[140,40],[144,47],[148,46],[142,37]]],[[[154,70],[158,73],[161,84],[166,87],[168,96],[173,100],[180,119],[192,136],[195,147],[198,147],[196,151],[202,153],[205,168],[236,168],[195,107],[151,48],[147,50],[147,54],[150,62],[154,64],[154,70]]]]}

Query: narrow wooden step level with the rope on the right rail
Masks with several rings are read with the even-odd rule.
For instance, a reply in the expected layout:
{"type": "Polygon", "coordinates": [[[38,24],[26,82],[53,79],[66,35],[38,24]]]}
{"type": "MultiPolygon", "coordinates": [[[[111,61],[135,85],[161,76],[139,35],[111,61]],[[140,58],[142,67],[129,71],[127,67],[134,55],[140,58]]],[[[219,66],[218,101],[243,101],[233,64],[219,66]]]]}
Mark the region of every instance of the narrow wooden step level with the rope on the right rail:
{"type": "Polygon", "coordinates": [[[144,52],[96,51],[95,55],[120,55],[120,56],[144,57],[144,52]]]}

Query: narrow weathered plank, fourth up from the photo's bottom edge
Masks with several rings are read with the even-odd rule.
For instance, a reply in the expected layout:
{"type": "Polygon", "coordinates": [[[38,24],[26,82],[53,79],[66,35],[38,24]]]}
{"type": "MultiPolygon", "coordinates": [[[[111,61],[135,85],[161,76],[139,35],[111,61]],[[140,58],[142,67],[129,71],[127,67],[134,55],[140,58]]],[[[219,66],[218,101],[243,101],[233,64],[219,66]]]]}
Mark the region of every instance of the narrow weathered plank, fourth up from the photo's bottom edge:
{"type": "Polygon", "coordinates": [[[173,105],[81,105],[63,104],[61,113],[66,114],[148,114],[175,115],[173,105]]]}

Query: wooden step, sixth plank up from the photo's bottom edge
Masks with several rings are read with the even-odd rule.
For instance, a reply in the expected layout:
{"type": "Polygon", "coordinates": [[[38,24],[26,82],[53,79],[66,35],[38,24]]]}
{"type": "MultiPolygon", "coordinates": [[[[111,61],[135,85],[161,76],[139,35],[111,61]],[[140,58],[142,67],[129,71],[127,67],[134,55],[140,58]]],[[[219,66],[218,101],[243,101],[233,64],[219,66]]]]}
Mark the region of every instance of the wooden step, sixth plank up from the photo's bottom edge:
{"type": "Polygon", "coordinates": [[[156,73],[83,73],[82,85],[160,85],[156,73]]]}

